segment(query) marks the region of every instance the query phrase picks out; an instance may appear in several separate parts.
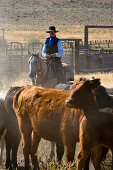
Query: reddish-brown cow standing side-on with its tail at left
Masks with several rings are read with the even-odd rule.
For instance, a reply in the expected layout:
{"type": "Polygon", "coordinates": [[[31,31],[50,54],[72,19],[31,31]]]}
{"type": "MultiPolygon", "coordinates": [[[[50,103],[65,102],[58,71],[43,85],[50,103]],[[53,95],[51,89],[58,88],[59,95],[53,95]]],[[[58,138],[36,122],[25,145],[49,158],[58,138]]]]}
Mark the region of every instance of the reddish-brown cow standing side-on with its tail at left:
{"type": "Polygon", "coordinates": [[[65,162],[73,161],[81,113],[66,107],[68,97],[68,91],[37,86],[21,88],[14,96],[13,107],[22,135],[25,169],[29,167],[29,155],[34,168],[39,168],[36,152],[41,137],[57,143],[59,159],[63,155],[60,147],[63,143],[65,162]]]}

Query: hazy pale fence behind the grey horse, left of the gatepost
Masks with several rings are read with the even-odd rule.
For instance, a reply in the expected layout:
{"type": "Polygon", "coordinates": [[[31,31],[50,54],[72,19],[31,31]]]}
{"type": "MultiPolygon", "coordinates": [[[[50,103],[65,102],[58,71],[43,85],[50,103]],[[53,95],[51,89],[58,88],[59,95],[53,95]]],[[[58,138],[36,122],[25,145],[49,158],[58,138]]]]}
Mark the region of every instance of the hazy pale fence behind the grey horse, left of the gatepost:
{"type": "MultiPolygon", "coordinates": [[[[63,42],[64,56],[62,62],[66,62],[73,67],[73,42],[63,42]]],[[[0,48],[0,77],[3,75],[19,74],[20,72],[29,72],[28,51],[32,53],[42,52],[43,43],[20,43],[9,42],[7,46],[0,48]]]]}

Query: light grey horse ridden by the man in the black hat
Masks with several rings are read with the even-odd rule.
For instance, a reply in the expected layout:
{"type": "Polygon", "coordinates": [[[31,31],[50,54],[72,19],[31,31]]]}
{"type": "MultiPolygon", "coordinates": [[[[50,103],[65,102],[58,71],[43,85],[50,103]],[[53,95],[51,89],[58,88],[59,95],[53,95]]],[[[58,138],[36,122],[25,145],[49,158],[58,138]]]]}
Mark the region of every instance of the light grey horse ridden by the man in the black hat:
{"type": "MultiPolygon", "coordinates": [[[[33,85],[41,85],[48,88],[54,88],[57,85],[56,75],[51,66],[52,60],[47,62],[45,59],[39,57],[39,52],[37,54],[28,52],[28,63],[29,77],[31,78],[33,85]]],[[[62,64],[65,83],[69,80],[74,80],[74,73],[71,67],[66,63],[62,64]]]]}

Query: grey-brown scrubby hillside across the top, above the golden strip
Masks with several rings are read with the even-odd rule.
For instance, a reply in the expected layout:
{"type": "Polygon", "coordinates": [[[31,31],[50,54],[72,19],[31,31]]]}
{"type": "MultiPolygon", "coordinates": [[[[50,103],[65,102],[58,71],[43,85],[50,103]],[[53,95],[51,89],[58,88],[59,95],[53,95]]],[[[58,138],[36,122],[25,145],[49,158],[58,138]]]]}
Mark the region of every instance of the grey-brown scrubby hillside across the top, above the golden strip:
{"type": "Polygon", "coordinates": [[[5,0],[0,5],[4,25],[111,25],[111,0],[5,0]]]}

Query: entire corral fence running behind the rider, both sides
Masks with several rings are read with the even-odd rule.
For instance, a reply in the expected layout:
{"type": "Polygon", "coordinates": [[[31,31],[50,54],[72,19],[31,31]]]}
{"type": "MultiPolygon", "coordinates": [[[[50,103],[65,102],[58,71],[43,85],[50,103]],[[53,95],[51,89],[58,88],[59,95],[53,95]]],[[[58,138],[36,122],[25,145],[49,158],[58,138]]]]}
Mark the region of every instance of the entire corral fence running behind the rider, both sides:
{"type": "MultiPolygon", "coordinates": [[[[75,61],[75,41],[62,41],[64,55],[62,62],[68,63],[73,70],[78,72],[110,71],[113,70],[112,49],[84,49],[80,43],[80,55],[75,61]],[[76,64],[77,63],[77,64],[76,64]]],[[[106,41],[107,42],[107,41],[106,41]]],[[[109,42],[109,44],[112,41],[109,42]]],[[[97,42],[95,42],[96,44],[97,42]]],[[[7,46],[0,48],[0,74],[6,72],[28,72],[28,51],[32,53],[42,52],[43,43],[9,42],[7,46]]]]}

